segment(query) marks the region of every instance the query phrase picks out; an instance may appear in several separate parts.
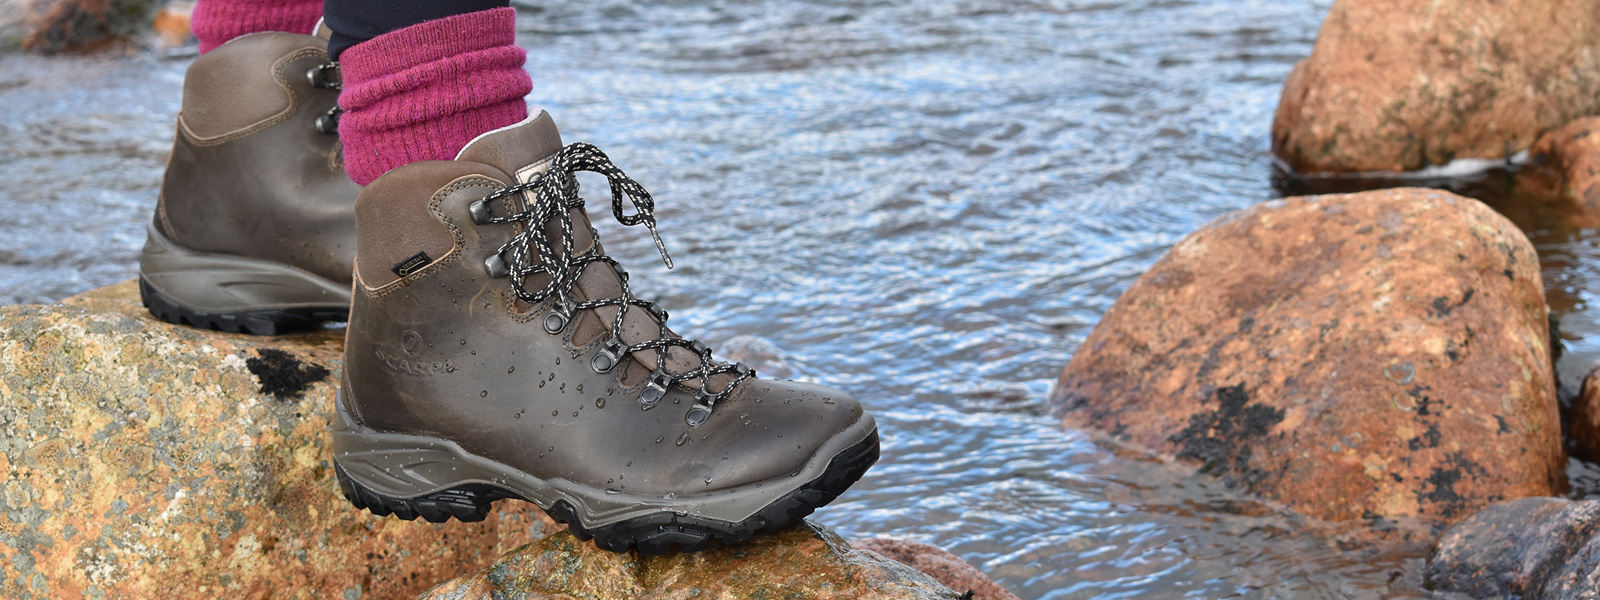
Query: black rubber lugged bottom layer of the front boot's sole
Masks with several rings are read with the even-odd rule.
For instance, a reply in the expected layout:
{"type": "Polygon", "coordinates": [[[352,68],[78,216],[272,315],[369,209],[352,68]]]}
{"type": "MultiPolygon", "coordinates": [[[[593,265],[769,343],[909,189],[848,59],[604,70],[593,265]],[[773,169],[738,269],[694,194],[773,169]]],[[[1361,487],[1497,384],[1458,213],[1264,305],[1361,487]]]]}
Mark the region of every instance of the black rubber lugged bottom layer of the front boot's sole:
{"type": "MultiPolygon", "coordinates": [[[[606,526],[587,528],[578,518],[578,510],[566,501],[557,501],[555,506],[541,509],[550,518],[566,523],[568,530],[578,539],[594,539],[595,546],[603,550],[627,552],[634,549],[645,555],[698,552],[710,546],[712,541],[723,546],[734,546],[749,541],[762,531],[778,531],[805,518],[845,493],[877,461],[878,432],[874,430],[867,438],[834,456],[822,475],[738,523],[677,512],[654,512],[606,526]]],[[[344,467],[338,461],[334,461],[333,469],[339,478],[339,490],[344,491],[344,498],[357,509],[366,509],[379,517],[395,515],[403,520],[422,517],[432,523],[445,523],[456,518],[470,523],[488,517],[490,506],[494,501],[507,498],[528,501],[488,483],[461,485],[421,498],[389,498],[366,490],[346,475],[344,467]]],[[[538,502],[533,504],[538,506],[538,502]]]]}

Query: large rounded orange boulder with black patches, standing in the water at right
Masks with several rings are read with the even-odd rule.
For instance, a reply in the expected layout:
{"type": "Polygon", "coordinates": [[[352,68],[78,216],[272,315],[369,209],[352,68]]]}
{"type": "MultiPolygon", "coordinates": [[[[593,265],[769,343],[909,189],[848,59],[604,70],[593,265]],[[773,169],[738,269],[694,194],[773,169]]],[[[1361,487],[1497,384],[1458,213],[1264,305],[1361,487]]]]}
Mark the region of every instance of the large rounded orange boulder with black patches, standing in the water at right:
{"type": "Polygon", "coordinates": [[[1051,400],[1067,427],[1330,522],[1437,525],[1566,485],[1539,259],[1440,190],[1206,224],[1112,306],[1051,400]]]}

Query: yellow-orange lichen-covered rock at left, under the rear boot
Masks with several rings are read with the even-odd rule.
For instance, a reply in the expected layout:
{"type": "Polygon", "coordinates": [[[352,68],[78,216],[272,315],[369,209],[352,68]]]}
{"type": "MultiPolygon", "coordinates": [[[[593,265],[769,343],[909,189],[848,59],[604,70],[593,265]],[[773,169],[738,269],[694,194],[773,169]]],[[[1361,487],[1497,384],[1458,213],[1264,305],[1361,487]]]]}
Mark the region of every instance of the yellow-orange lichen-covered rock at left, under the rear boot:
{"type": "Polygon", "coordinates": [[[0,597],[403,598],[557,530],[341,498],[341,331],[166,325],[131,282],[67,304],[0,309],[0,597]]]}

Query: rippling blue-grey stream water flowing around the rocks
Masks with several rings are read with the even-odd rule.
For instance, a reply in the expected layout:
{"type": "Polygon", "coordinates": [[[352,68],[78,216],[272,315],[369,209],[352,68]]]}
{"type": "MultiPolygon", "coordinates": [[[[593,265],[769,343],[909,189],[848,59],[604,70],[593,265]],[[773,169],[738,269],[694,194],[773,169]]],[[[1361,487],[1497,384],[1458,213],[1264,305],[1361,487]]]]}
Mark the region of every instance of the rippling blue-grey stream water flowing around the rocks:
{"type": "MultiPolygon", "coordinates": [[[[877,414],[882,462],[818,520],[950,549],[1022,598],[1427,597],[1414,552],[1341,549],[1045,408],[1150,262],[1280,194],[1272,110],[1328,5],[541,0],[518,27],[533,104],[658,198],[672,272],[592,203],[634,288],[877,414]]],[[[0,56],[0,304],[134,275],[192,58],[0,56]]],[[[1600,357],[1600,237],[1525,226],[1573,387],[1600,357]]]]}

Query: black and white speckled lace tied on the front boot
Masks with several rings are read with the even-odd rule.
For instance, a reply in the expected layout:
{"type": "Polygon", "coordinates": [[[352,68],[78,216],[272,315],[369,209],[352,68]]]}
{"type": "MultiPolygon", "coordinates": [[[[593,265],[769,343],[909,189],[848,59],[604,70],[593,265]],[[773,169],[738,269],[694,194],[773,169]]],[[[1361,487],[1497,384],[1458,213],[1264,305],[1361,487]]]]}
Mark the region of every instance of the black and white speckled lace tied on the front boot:
{"type": "Polygon", "coordinates": [[[650,237],[656,242],[656,251],[661,253],[661,261],[666,262],[667,269],[672,269],[672,256],[667,254],[667,246],[661,242],[661,234],[656,232],[656,202],[650,197],[650,192],[624,174],[622,170],[616,168],[605,152],[600,152],[598,147],[586,142],[576,142],[563,147],[555,154],[555,157],[550,158],[549,168],[536,179],[502,187],[498,192],[472,203],[472,221],[480,226],[512,222],[525,224],[517,235],[501,245],[496,253],[485,261],[485,269],[490,272],[490,277],[510,277],[510,286],[517,293],[517,298],[528,304],[539,304],[554,298],[554,309],[544,317],[544,330],[550,334],[565,331],[566,325],[573,323],[581,310],[616,307],[618,314],[616,320],[611,323],[610,338],[606,338],[602,349],[594,355],[590,366],[597,373],[608,373],[634,352],[654,350],[654,371],[650,374],[648,382],[640,392],[638,402],[645,405],[646,410],[653,408],[662,397],[666,397],[667,390],[674,384],[698,379],[699,394],[694,398],[694,405],[690,406],[685,421],[690,427],[699,427],[710,418],[717,403],[728,398],[736,386],[754,378],[755,371],[744,363],[714,360],[710,349],[701,341],[678,338],[667,330],[667,312],[656,302],[634,298],[634,293],[627,285],[627,272],[622,270],[613,258],[600,251],[600,243],[590,245],[590,248],[582,254],[576,253],[573,248],[574,224],[570,210],[582,210],[584,206],[584,198],[578,194],[576,174],[579,171],[598,173],[606,178],[611,184],[611,214],[624,226],[645,226],[645,229],[650,230],[650,237]],[[514,194],[525,194],[525,210],[506,216],[494,216],[490,210],[491,202],[514,194]],[[528,200],[530,197],[531,202],[528,200]],[[624,211],[622,200],[634,205],[634,214],[627,214],[624,211]],[[562,238],[558,240],[562,246],[560,254],[554,251],[554,243],[557,240],[550,240],[547,229],[542,226],[552,219],[558,222],[562,229],[562,238]],[[606,262],[616,269],[622,294],[618,298],[600,298],[576,302],[573,301],[573,288],[578,285],[584,270],[594,262],[606,262]],[[526,277],[536,274],[547,275],[549,282],[541,290],[528,290],[523,282],[526,277]],[[622,323],[627,312],[634,309],[648,310],[656,318],[661,330],[651,339],[637,344],[624,344],[622,323]],[[667,349],[674,346],[693,352],[699,358],[699,366],[683,373],[672,373],[667,370],[667,349]],[[723,386],[722,390],[712,392],[710,379],[718,374],[731,376],[731,381],[723,386]]]}

